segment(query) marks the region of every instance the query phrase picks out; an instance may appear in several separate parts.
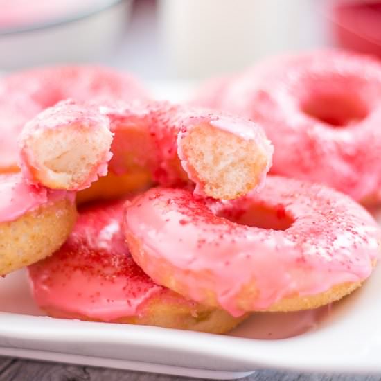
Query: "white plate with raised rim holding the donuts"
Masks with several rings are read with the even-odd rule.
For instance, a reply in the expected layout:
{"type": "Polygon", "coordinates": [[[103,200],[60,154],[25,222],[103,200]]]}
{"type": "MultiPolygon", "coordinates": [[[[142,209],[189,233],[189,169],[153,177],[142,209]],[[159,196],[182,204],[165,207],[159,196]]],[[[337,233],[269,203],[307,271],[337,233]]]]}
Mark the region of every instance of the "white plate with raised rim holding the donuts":
{"type": "MultiPolygon", "coordinates": [[[[161,98],[186,93],[160,89],[161,98]]],[[[265,368],[381,372],[380,290],[378,266],[330,309],[255,314],[229,335],[211,335],[44,317],[21,270],[0,278],[0,355],[220,380],[265,368]]]]}

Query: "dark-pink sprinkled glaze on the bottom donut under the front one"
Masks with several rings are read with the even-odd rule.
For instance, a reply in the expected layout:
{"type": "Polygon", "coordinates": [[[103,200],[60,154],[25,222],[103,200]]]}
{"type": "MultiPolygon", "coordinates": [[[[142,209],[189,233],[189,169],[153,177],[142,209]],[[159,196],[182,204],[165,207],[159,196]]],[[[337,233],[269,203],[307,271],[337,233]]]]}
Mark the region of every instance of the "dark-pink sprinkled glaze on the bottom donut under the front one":
{"type": "Polygon", "coordinates": [[[130,256],[122,215],[123,201],[86,206],[62,248],[28,267],[41,308],[112,321],[140,316],[145,302],[166,295],[130,256]]]}

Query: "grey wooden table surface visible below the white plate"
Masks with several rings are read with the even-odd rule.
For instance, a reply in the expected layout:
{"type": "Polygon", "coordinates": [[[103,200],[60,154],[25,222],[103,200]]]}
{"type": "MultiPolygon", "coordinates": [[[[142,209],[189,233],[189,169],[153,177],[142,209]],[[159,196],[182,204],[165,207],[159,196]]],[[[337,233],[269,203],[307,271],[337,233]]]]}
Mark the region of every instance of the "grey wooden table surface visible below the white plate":
{"type": "MultiPolygon", "coordinates": [[[[0,357],[0,381],[187,381],[192,378],[0,357]]],[[[379,381],[381,375],[258,371],[244,381],[379,381]]]]}

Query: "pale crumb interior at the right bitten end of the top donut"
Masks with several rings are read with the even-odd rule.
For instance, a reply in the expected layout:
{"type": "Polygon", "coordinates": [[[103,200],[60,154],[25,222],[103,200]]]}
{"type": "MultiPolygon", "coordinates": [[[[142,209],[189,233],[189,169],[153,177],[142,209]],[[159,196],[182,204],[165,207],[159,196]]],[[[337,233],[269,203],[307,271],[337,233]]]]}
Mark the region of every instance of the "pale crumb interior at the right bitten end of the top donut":
{"type": "Polygon", "coordinates": [[[196,125],[181,139],[188,171],[204,183],[215,199],[233,199],[258,186],[268,158],[253,140],[220,130],[208,123],[196,125]]]}

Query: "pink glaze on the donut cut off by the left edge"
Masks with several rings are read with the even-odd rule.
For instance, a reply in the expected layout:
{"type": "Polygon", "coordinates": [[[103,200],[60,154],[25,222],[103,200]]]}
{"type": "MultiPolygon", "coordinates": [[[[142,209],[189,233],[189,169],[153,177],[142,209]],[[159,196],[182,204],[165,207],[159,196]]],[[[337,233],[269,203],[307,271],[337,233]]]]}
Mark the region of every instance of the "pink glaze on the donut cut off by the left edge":
{"type": "Polygon", "coordinates": [[[27,184],[21,173],[0,175],[0,196],[0,222],[16,220],[48,202],[63,198],[74,202],[75,198],[72,192],[37,188],[27,184]]]}

